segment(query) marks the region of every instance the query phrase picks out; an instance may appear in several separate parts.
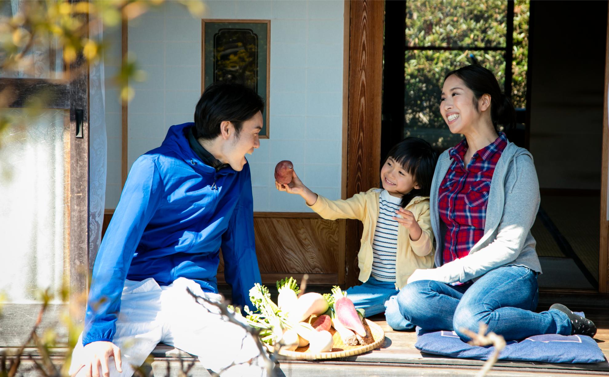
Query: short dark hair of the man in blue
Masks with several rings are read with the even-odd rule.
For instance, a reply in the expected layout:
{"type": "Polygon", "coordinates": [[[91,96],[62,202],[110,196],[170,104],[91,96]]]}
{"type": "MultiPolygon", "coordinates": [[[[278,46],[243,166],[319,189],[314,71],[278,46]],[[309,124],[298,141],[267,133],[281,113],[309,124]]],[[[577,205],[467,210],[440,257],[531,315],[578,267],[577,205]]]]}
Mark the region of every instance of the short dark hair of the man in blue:
{"type": "Polygon", "coordinates": [[[239,135],[242,123],[264,111],[264,100],[247,86],[216,82],[209,85],[194,111],[194,136],[197,139],[215,139],[220,134],[220,123],[233,123],[239,135]]]}

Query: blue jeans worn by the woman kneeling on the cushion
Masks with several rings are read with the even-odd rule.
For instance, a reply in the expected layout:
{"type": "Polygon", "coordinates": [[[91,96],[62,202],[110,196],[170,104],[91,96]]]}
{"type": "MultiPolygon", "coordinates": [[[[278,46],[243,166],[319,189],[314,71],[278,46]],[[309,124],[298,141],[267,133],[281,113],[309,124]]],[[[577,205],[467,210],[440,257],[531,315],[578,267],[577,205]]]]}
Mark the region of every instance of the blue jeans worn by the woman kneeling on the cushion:
{"type": "Polygon", "coordinates": [[[523,266],[505,266],[482,275],[470,286],[434,280],[407,284],[398,294],[400,313],[424,330],[460,329],[478,332],[480,322],[506,341],[540,334],[571,335],[571,320],[558,310],[535,313],[537,275],[523,266]]]}

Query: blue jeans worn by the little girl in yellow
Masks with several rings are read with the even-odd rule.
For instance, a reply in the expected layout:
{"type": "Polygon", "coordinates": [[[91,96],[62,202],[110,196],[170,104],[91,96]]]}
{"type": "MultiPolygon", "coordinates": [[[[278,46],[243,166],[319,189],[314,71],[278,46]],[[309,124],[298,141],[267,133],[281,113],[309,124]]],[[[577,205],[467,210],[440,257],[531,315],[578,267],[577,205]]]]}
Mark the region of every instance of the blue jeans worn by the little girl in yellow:
{"type": "Polygon", "coordinates": [[[398,308],[396,295],[398,290],[392,282],[381,282],[373,277],[362,285],[347,289],[347,296],[353,301],[356,309],[363,308],[366,317],[385,312],[387,324],[394,330],[408,330],[414,325],[404,319],[398,308]]]}

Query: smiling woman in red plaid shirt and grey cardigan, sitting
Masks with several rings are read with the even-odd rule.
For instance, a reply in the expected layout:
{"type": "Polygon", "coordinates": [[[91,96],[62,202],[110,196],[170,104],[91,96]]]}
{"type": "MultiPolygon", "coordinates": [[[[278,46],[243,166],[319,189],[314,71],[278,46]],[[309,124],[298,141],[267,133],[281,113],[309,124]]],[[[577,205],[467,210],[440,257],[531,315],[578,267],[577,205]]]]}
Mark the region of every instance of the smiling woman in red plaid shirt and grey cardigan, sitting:
{"type": "Polygon", "coordinates": [[[417,269],[398,294],[400,313],[424,330],[477,332],[479,323],[506,340],[538,334],[594,336],[594,323],[564,305],[535,313],[541,266],[530,228],[540,204],[529,151],[499,126],[515,110],[495,76],[479,65],[449,72],[440,112],[465,136],[438,159],[431,188],[435,269],[417,269]]]}

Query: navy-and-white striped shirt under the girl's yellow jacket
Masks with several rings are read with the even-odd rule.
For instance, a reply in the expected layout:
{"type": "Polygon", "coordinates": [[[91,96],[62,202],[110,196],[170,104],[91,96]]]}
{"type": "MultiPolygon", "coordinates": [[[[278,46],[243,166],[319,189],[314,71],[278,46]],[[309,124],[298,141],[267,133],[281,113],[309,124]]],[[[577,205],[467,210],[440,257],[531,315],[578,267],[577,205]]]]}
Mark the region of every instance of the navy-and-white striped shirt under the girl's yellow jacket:
{"type": "Polygon", "coordinates": [[[393,220],[400,208],[402,198],[391,196],[387,190],[379,195],[379,216],[376,219],[375,237],[372,241],[372,272],[371,275],[381,282],[395,282],[395,258],[398,246],[398,227],[400,224],[393,220]]]}

